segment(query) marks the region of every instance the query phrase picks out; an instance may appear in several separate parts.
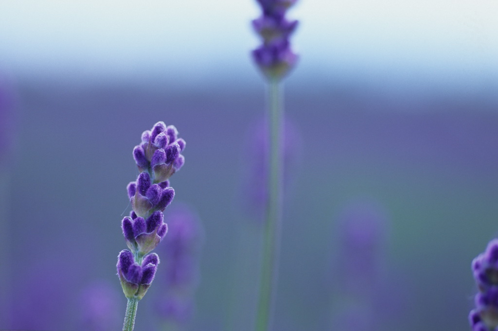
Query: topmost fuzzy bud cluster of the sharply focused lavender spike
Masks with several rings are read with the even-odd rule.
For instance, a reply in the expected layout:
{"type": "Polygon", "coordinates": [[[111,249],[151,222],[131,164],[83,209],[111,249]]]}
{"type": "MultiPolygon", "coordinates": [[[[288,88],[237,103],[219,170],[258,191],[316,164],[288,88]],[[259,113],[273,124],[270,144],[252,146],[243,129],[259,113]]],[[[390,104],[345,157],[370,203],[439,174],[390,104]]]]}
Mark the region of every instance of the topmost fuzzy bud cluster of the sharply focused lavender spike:
{"type": "Polygon", "coordinates": [[[166,181],[183,166],[180,152],[185,148],[185,140],[178,138],[175,126],[157,122],[142,133],[141,140],[133,149],[133,158],[140,171],[153,176],[152,183],[166,181]]]}

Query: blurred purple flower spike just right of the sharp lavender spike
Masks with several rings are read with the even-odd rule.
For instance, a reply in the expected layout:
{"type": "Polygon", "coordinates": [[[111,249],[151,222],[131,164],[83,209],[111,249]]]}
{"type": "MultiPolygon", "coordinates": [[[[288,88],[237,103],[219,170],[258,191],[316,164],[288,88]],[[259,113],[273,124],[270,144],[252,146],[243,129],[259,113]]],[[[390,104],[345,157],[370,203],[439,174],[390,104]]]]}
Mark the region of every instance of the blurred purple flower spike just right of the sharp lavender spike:
{"type": "Polygon", "coordinates": [[[187,205],[171,208],[166,220],[168,235],[161,248],[164,276],[157,280],[162,293],[156,310],[165,331],[184,330],[195,306],[204,231],[199,217],[187,205]]]}

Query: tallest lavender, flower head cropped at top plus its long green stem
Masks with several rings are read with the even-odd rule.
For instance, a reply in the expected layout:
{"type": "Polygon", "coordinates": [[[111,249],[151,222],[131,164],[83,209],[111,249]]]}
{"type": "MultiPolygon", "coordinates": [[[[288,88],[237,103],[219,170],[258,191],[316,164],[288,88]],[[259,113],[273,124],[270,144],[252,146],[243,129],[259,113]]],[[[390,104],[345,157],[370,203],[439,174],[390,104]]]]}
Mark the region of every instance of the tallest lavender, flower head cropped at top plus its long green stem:
{"type": "Polygon", "coordinates": [[[297,55],[290,49],[289,42],[289,36],[295,30],[297,21],[288,21],[285,18],[287,9],[296,0],[257,1],[263,13],[261,17],[252,21],[252,26],[263,43],[252,51],[252,56],[268,82],[270,148],[268,203],[255,329],[266,331],[271,325],[281,231],[282,151],[280,145],[283,106],[280,81],[297,61],[297,55]]]}

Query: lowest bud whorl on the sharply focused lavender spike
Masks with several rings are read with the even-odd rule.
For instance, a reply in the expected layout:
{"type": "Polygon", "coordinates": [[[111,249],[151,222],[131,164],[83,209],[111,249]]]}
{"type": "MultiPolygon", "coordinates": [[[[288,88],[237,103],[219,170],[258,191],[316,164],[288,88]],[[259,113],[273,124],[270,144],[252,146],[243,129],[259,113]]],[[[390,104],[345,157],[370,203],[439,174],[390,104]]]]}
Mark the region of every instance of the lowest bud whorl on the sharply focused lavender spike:
{"type": "Polygon", "coordinates": [[[154,279],[158,264],[159,257],[155,253],[145,256],[142,264],[138,264],[129,250],[120,252],[116,267],[126,298],[143,298],[154,279]]]}

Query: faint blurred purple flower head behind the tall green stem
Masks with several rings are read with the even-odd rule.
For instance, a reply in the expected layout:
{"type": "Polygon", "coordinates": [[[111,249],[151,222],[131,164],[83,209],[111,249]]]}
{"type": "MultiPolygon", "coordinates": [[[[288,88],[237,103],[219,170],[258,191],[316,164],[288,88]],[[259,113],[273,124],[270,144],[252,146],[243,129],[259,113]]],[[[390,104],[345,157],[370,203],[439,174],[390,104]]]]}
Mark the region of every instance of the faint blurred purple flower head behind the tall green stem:
{"type": "MultiPolygon", "coordinates": [[[[297,126],[285,118],[283,123],[283,189],[284,199],[293,181],[293,170],[301,154],[302,138],[297,126]]],[[[241,200],[247,213],[258,221],[263,220],[267,203],[267,176],[269,133],[265,120],[260,120],[249,128],[244,148],[245,171],[241,200]]]]}

